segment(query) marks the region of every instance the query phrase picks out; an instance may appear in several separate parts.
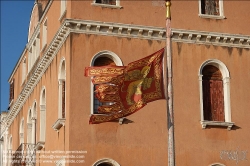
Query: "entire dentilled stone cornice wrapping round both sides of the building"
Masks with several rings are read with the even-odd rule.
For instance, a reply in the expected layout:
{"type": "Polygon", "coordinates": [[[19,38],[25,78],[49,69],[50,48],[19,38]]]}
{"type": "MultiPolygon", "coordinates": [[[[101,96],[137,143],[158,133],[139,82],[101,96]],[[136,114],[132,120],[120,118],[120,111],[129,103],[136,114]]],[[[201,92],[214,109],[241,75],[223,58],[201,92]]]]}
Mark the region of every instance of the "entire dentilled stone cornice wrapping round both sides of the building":
{"type": "MultiPolygon", "coordinates": [[[[36,33],[34,33],[32,37],[36,36],[36,33]]],[[[51,43],[46,47],[46,50],[35,67],[34,72],[27,80],[27,83],[24,85],[24,88],[13,104],[13,107],[5,120],[6,124],[8,124],[6,127],[11,125],[70,33],[138,38],[145,40],[166,40],[166,30],[162,27],[65,19],[51,43]]],[[[31,41],[32,40],[29,41],[28,45],[31,41]]],[[[250,49],[250,36],[245,35],[172,29],[172,41],[250,49]]]]}

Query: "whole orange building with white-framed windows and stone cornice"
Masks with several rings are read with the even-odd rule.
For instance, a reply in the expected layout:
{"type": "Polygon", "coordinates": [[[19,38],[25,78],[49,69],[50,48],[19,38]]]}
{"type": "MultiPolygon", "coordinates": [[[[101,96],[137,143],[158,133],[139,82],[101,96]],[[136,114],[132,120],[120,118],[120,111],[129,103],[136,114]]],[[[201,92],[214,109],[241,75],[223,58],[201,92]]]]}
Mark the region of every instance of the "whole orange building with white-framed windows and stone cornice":
{"type": "MultiPolygon", "coordinates": [[[[175,165],[250,164],[249,6],[171,4],[175,165]]],[[[123,66],[165,47],[165,13],[164,1],[36,1],[9,78],[3,165],[167,165],[166,100],[90,125],[100,103],[84,76],[85,67],[123,66]]]]}

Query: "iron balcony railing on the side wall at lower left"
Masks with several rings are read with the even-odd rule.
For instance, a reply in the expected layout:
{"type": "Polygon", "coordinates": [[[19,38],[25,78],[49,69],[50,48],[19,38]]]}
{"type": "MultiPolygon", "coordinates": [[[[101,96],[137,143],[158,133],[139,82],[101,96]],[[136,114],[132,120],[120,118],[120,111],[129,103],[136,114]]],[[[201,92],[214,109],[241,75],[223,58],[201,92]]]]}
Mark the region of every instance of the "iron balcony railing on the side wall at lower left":
{"type": "Polygon", "coordinates": [[[22,143],[12,156],[12,166],[30,165],[36,163],[35,144],[22,143]]]}

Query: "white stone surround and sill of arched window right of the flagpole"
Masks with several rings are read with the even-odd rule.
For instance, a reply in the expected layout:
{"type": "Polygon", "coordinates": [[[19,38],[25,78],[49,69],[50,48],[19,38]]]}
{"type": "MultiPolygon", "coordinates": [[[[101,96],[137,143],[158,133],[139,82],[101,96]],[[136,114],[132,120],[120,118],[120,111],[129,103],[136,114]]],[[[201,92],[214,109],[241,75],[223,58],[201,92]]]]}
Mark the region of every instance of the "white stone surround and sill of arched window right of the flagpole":
{"type": "Polygon", "coordinates": [[[199,68],[199,90],[200,90],[200,115],[201,115],[201,125],[202,128],[205,129],[206,126],[226,126],[228,130],[231,130],[234,122],[231,122],[231,106],[230,106],[230,75],[226,65],[217,60],[217,59],[209,59],[202,63],[199,68]],[[204,120],[204,111],[203,111],[203,89],[202,89],[202,70],[207,65],[213,65],[217,67],[222,74],[223,79],[223,94],[224,94],[224,114],[225,114],[225,122],[218,121],[207,121],[204,120]]]}

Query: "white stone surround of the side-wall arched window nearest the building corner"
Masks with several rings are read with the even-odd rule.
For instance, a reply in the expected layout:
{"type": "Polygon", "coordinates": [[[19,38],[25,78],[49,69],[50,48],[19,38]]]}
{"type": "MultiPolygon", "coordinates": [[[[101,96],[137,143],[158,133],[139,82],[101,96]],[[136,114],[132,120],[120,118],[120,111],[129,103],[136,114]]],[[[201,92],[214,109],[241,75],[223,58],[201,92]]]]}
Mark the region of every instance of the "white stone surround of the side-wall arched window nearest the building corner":
{"type": "Polygon", "coordinates": [[[59,131],[59,129],[65,125],[66,118],[62,117],[62,82],[65,81],[65,117],[66,117],[66,61],[65,58],[62,57],[59,65],[59,73],[58,73],[58,119],[52,125],[52,128],[55,131],[59,131]]]}

